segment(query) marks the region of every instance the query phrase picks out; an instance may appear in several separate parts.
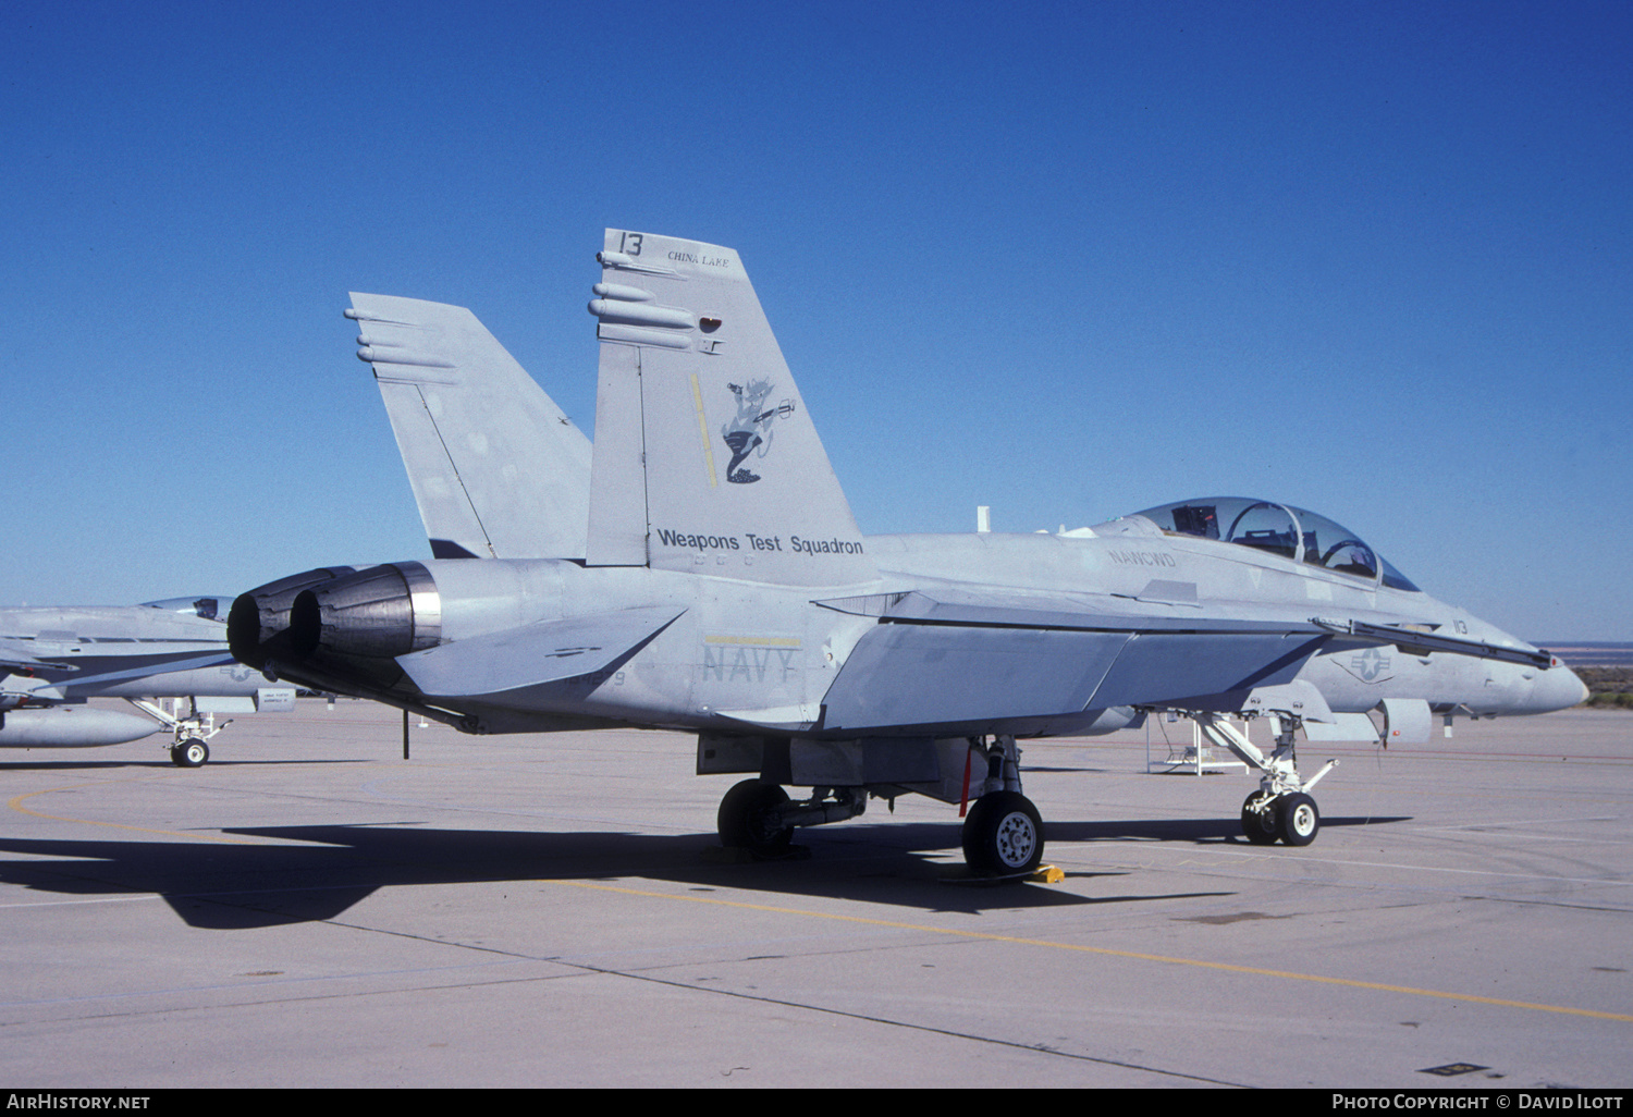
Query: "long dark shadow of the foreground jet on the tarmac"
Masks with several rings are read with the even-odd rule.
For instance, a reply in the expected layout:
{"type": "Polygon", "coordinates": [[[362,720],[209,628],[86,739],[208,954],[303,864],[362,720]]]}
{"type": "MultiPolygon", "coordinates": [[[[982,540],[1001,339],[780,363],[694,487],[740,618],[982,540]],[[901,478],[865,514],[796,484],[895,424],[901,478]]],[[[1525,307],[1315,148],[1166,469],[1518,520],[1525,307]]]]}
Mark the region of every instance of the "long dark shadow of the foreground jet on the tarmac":
{"type": "MultiPolygon", "coordinates": [[[[1328,825],[1391,821],[1328,820],[1328,825]]],[[[1248,843],[1223,820],[1055,821],[1058,841],[1117,838],[1248,843]]],[[[1145,903],[1228,892],[1138,893],[1114,898],[1079,890],[975,879],[937,857],[955,851],[959,828],[888,821],[808,831],[812,856],[720,864],[714,834],[534,833],[433,830],[413,823],[269,826],[225,831],[302,844],[198,841],[51,841],[0,838],[0,882],[73,897],[157,893],[188,924],[248,929],[333,919],[379,888],[483,882],[624,880],[643,877],[704,888],[772,892],[890,903],[923,911],[1014,910],[1145,903]],[[59,857],[60,861],[49,861],[59,857]]],[[[1297,856],[1297,851],[1266,851],[1297,856]]],[[[1073,877],[1124,875],[1073,872],[1073,877]]]]}

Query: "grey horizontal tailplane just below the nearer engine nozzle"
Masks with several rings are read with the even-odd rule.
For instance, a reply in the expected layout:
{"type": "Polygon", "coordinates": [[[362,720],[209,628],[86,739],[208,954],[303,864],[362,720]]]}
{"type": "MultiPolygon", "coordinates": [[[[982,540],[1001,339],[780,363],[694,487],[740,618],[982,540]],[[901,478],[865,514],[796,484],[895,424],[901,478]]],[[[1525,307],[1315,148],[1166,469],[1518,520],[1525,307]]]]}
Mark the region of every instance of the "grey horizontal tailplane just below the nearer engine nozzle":
{"type": "Polygon", "coordinates": [[[542,621],[397,656],[421,694],[500,694],[603,671],[640,650],[679,606],[643,606],[542,621]]]}

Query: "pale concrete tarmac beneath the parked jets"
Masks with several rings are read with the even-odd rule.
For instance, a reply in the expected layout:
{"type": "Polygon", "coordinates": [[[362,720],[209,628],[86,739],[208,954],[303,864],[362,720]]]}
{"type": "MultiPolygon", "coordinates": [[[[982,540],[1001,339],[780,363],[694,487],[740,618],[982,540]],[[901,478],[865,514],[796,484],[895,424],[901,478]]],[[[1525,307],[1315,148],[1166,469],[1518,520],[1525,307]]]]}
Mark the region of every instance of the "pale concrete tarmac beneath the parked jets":
{"type": "MultiPolygon", "coordinates": [[[[661,732],[465,737],[302,701],[201,769],[0,754],[0,1081],[185,1086],[1633,1084],[1633,714],[1305,746],[1249,844],[1189,723],[1022,741],[1053,885],[874,800],[723,864],[661,732]]],[[[1261,735],[1256,733],[1256,740],[1261,735]]]]}

